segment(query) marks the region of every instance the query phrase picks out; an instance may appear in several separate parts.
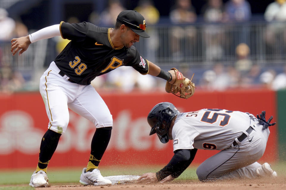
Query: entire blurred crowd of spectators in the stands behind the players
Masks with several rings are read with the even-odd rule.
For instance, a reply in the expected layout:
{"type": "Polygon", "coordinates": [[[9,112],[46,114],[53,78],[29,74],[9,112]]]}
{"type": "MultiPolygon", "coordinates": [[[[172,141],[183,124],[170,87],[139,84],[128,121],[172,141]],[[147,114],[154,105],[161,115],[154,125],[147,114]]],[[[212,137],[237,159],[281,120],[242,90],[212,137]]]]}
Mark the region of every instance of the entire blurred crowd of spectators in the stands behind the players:
{"type": "MultiPolygon", "coordinates": [[[[122,1],[109,0],[107,7],[100,13],[92,12],[88,22],[100,26],[114,26],[117,15],[126,10],[122,1]]],[[[152,25],[156,25],[160,20],[160,12],[154,5],[153,0],[140,0],[134,10],[140,12],[148,23],[148,33],[150,38],[147,40],[148,52],[147,59],[152,60],[155,50],[159,47],[158,33],[152,30],[152,25]],[[151,27],[150,27],[151,26],[151,27]]],[[[178,68],[183,71],[186,76],[194,76],[194,82],[198,89],[221,91],[229,88],[253,88],[263,87],[272,90],[286,88],[286,66],[283,69],[279,67],[261,67],[253,64],[250,56],[250,48],[247,41],[248,33],[245,30],[240,32],[242,37],[235,45],[234,63],[224,65],[219,61],[217,55],[223,56],[223,49],[219,42],[225,38],[223,29],[215,25],[215,23],[227,22],[244,22],[251,19],[251,6],[247,0],[207,0],[201,9],[201,15],[197,15],[191,0],[176,0],[174,7],[171,7],[169,20],[174,26],[170,32],[170,48],[174,60],[181,56],[182,47],[186,39],[196,42],[197,31],[192,23],[197,22],[198,18],[203,18],[206,25],[203,38],[206,39],[205,55],[209,61],[214,64],[212,68],[178,68]],[[178,25],[179,24],[179,25],[178,25]],[[181,25],[180,25],[181,24],[181,25]],[[213,25],[214,24],[214,25],[213,25]],[[182,27],[184,25],[184,27],[182,27]],[[214,59],[214,55],[216,59],[214,59]],[[215,61],[214,61],[215,60],[215,61]]],[[[272,21],[286,21],[286,0],[275,0],[265,9],[264,18],[269,25],[267,26],[263,38],[271,50],[275,50],[275,44],[282,39],[286,39],[285,23],[276,23],[272,21]]],[[[71,16],[66,22],[77,23],[78,18],[71,16]]],[[[14,37],[26,36],[28,34],[27,27],[22,23],[21,19],[9,18],[8,12],[0,8],[0,43],[10,41],[14,37]]],[[[285,40],[283,39],[283,40],[285,40]]],[[[56,51],[59,53],[69,42],[62,38],[56,38],[56,51]]],[[[139,42],[140,43],[140,42],[139,42]]],[[[202,42],[197,42],[202,43],[202,42]]],[[[190,52],[192,48],[189,47],[190,52]]],[[[279,51],[279,50],[276,50],[279,51]]],[[[275,51],[273,51],[275,53],[275,51]]],[[[16,70],[11,62],[6,61],[7,56],[12,56],[10,52],[0,49],[0,93],[13,93],[14,91],[23,90],[23,86],[27,82],[25,77],[21,75],[21,71],[16,70]]],[[[179,60],[177,60],[179,61],[179,60]]],[[[169,68],[170,69],[170,68],[169,68]]],[[[92,85],[98,90],[130,92],[130,91],[150,91],[154,87],[164,90],[164,81],[150,75],[140,75],[131,67],[120,67],[114,71],[97,77],[92,81],[92,85]]]]}

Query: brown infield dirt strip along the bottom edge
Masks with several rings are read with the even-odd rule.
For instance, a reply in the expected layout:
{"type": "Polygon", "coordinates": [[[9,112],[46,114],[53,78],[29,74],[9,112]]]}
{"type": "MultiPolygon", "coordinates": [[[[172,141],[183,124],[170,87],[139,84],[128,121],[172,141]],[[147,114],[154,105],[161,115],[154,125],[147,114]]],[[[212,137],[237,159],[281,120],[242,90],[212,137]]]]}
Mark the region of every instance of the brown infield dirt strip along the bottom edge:
{"type": "MultiPolygon", "coordinates": [[[[215,181],[215,182],[199,182],[195,181],[173,181],[166,184],[141,184],[129,183],[118,184],[113,186],[83,186],[74,185],[51,185],[47,190],[85,190],[85,189],[111,189],[111,190],[163,190],[163,189],[192,189],[192,190],[244,190],[244,189],[267,189],[267,190],[282,190],[286,189],[286,177],[278,178],[260,178],[260,179],[243,179],[232,181],[215,181]]],[[[40,189],[40,188],[35,188],[40,189]]],[[[43,190],[43,188],[41,188],[43,190]]]]}

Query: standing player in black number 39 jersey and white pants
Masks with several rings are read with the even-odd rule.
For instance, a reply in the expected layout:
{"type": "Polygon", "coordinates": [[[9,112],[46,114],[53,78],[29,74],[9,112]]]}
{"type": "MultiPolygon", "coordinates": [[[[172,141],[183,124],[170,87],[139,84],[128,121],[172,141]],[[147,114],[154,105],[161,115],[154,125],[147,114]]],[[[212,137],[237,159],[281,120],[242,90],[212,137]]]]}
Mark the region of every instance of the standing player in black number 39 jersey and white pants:
{"type": "Polygon", "coordinates": [[[80,183],[95,186],[111,184],[110,180],[102,177],[98,165],[111,137],[112,115],[90,83],[95,77],[119,66],[132,66],[142,75],[161,77],[173,84],[177,71],[163,71],[140,55],[133,46],[139,42],[140,36],[149,37],[145,29],[144,17],[136,11],[126,10],[118,15],[114,29],[87,22],[61,22],[11,40],[13,55],[18,51],[21,55],[31,43],[40,39],[61,36],[71,40],[40,79],[40,92],[49,124],[41,141],[38,165],[32,174],[30,186],[48,186],[47,166],[61,134],[68,126],[68,108],[93,122],[96,127],[91,141],[91,154],[80,176],[80,183]]]}

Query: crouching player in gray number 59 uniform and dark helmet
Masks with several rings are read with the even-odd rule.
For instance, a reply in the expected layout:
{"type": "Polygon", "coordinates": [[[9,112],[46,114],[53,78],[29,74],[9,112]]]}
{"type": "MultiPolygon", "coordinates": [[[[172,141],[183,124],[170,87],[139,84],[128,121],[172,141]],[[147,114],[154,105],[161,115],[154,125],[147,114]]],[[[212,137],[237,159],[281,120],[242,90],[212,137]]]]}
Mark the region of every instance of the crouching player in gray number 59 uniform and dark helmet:
{"type": "Polygon", "coordinates": [[[150,135],[162,143],[173,140],[174,156],[156,173],[145,173],[139,182],[172,181],[191,164],[198,149],[220,150],[197,169],[200,181],[235,178],[276,177],[267,162],[259,164],[270,131],[265,111],[257,115],[222,109],[202,109],[180,113],[170,102],[161,102],[147,116],[150,135]]]}

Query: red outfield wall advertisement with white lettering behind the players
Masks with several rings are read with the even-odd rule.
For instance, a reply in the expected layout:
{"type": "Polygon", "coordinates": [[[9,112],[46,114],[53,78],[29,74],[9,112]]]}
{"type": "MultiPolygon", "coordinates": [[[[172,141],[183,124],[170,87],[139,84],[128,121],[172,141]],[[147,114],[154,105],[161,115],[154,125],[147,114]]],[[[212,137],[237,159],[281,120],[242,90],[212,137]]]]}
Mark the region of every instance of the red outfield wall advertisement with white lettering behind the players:
{"type": "MultiPolygon", "coordinates": [[[[160,102],[172,102],[181,112],[218,108],[256,115],[265,110],[267,116],[273,115],[276,121],[273,91],[198,91],[189,99],[164,92],[101,96],[114,120],[111,140],[101,165],[153,165],[170,161],[173,156],[172,141],[163,144],[156,135],[149,136],[150,126],[146,120],[152,107],[160,102]],[[267,104],[264,103],[265,99],[267,104]]],[[[40,93],[0,96],[0,105],[0,169],[36,167],[41,138],[48,127],[40,93]]],[[[268,145],[261,159],[263,161],[275,162],[277,159],[276,126],[270,128],[268,145]]],[[[94,131],[95,127],[90,121],[70,111],[69,126],[60,138],[49,167],[85,167],[94,131]]],[[[193,163],[199,164],[215,153],[217,151],[199,150],[193,163]]]]}

